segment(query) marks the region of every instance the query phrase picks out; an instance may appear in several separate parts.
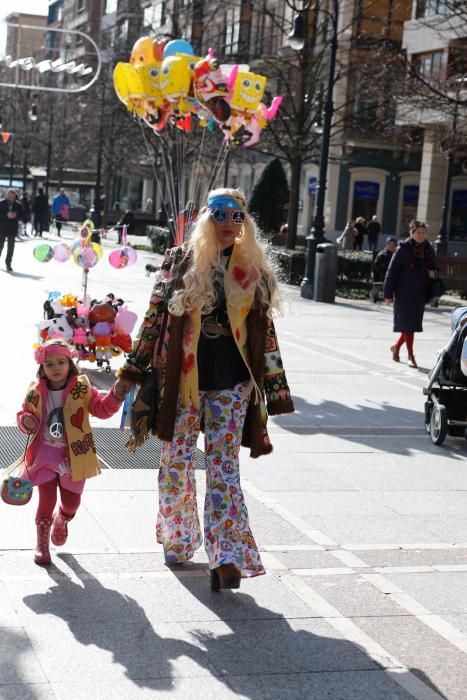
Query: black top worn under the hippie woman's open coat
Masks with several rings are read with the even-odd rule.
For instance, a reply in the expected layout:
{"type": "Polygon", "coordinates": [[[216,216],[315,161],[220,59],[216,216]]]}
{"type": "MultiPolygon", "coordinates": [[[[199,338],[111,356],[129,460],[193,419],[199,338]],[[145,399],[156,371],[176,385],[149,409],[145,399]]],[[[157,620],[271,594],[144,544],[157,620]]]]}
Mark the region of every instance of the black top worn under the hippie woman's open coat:
{"type": "MultiPolygon", "coordinates": [[[[229,257],[233,246],[222,254],[229,257]]],[[[228,266],[228,262],[227,262],[228,266]]],[[[250,373],[232,335],[217,335],[203,332],[203,324],[217,323],[230,330],[222,277],[214,280],[216,304],[209,314],[201,316],[201,333],[198,342],[198,383],[200,391],[230,389],[250,378],[250,373]]]]}

